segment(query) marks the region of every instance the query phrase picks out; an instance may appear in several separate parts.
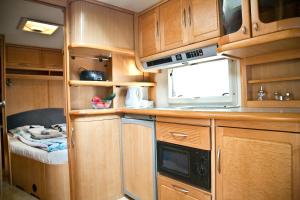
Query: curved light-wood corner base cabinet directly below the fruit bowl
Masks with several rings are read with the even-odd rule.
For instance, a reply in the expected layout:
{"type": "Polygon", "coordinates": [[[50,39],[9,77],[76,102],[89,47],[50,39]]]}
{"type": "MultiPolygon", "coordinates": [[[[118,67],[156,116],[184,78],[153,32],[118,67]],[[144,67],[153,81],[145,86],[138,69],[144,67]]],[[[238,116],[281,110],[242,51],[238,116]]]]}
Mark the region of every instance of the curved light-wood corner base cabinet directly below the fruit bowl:
{"type": "Polygon", "coordinates": [[[121,198],[120,119],[79,117],[68,137],[72,200],[121,198]]]}

